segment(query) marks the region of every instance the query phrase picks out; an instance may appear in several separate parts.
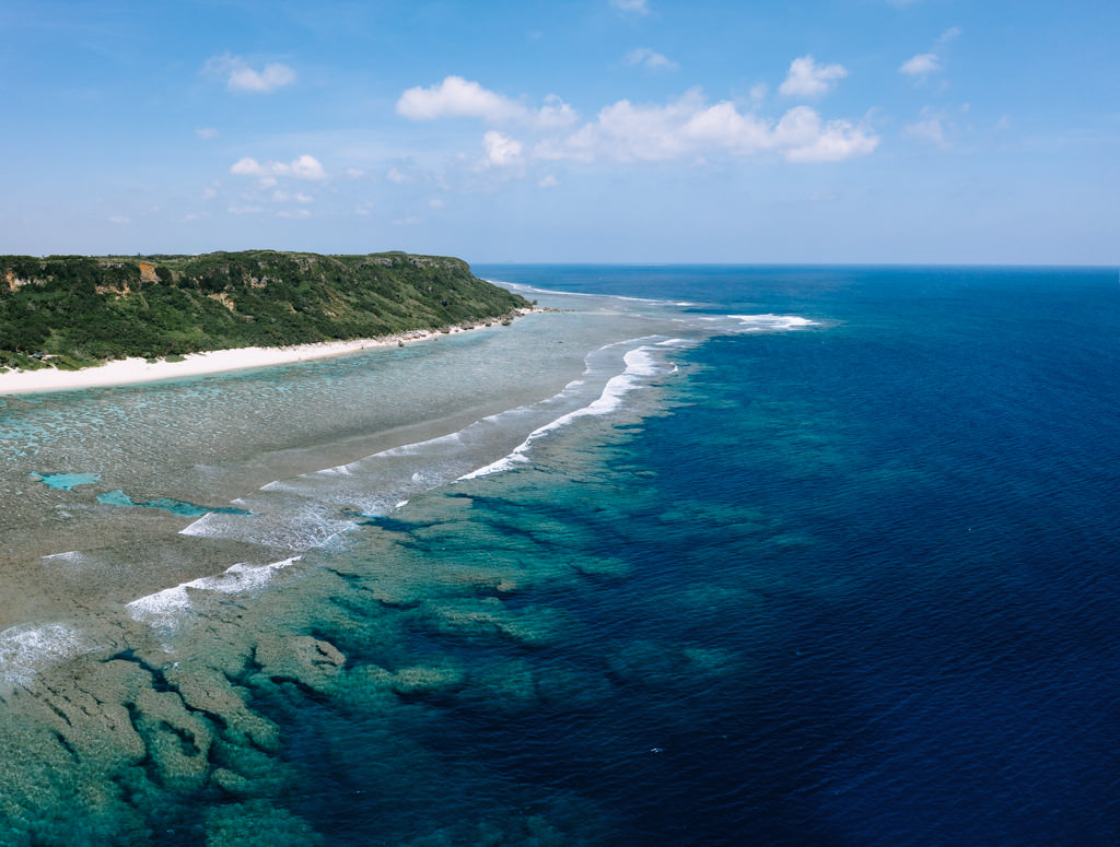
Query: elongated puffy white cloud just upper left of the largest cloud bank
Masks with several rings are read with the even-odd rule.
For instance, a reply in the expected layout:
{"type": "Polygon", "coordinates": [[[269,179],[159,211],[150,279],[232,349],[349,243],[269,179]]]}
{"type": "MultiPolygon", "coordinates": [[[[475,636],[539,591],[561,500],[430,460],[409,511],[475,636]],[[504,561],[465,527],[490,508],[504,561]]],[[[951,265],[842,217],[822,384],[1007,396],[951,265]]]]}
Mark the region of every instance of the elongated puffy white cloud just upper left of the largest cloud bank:
{"type": "Polygon", "coordinates": [[[575,110],[554,94],[544,98],[541,109],[533,110],[461,76],[448,76],[427,88],[409,88],[396,101],[396,113],[412,121],[480,117],[487,123],[520,122],[542,129],[570,126],[578,119],[575,110]]]}

